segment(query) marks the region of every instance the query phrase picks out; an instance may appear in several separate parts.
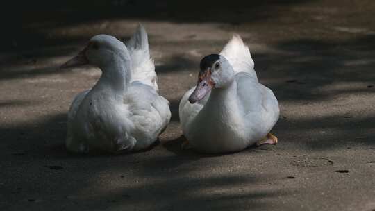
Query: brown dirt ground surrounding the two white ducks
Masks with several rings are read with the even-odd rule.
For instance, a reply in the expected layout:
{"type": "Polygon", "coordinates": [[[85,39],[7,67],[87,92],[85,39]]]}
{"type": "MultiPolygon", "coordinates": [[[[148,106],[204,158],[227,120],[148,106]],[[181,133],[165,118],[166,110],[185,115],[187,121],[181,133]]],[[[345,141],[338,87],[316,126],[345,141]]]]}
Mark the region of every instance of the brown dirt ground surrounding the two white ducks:
{"type": "MultiPolygon", "coordinates": [[[[10,6],[14,12],[17,4],[10,6]]],[[[375,1],[38,1],[0,35],[0,210],[375,210],[375,1]],[[172,121],[149,151],[72,155],[67,110],[92,35],[149,33],[172,121]],[[178,103],[233,33],[281,117],[276,146],[183,151],[178,103]]]]}

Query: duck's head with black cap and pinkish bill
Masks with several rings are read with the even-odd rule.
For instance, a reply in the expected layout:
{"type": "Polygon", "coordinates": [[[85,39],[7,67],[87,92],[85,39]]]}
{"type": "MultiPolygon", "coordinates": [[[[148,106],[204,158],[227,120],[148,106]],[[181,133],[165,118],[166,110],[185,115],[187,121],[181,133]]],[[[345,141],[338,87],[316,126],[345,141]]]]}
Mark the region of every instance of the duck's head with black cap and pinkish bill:
{"type": "Polygon", "coordinates": [[[227,87],[234,80],[233,67],[219,54],[210,54],[202,58],[200,68],[197,87],[189,97],[190,103],[200,101],[212,89],[227,87]]]}

